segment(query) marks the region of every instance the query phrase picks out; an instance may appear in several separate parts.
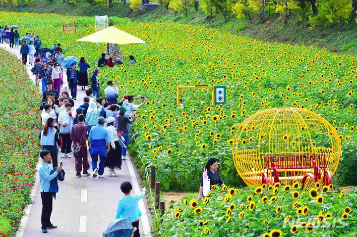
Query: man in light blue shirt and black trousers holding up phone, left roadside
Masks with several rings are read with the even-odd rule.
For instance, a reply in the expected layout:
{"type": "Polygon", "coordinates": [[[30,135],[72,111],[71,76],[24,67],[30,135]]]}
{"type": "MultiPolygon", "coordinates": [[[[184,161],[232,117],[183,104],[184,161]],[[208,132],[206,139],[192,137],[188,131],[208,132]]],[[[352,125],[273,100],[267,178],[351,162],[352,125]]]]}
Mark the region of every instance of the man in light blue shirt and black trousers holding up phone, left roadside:
{"type": "Polygon", "coordinates": [[[42,233],[47,233],[47,229],[56,229],[51,223],[51,213],[52,213],[52,201],[53,192],[50,191],[51,181],[57,179],[57,175],[62,170],[62,166],[57,167],[56,171],[52,173],[52,168],[49,162],[51,161],[51,152],[49,150],[42,150],[40,152],[40,157],[43,162],[39,169],[40,175],[40,185],[41,185],[41,199],[42,199],[42,214],[41,214],[41,224],[42,233]],[[52,173],[52,174],[51,174],[52,173]]]}

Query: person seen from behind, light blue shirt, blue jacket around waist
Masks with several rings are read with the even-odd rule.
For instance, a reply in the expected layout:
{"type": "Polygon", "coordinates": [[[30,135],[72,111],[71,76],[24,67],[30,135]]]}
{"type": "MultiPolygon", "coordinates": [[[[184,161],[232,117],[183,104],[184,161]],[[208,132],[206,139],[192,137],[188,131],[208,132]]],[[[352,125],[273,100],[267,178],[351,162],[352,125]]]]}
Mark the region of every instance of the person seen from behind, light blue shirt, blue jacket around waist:
{"type": "Polygon", "coordinates": [[[109,132],[104,128],[105,118],[98,118],[98,125],[94,126],[88,136],[89,153],[92,157],[93,178],[104,178],[105,160],[107,159],[108,152],[110,151],[109,132]],[[97,168],[99,156],[99,169],[97,168]]]}

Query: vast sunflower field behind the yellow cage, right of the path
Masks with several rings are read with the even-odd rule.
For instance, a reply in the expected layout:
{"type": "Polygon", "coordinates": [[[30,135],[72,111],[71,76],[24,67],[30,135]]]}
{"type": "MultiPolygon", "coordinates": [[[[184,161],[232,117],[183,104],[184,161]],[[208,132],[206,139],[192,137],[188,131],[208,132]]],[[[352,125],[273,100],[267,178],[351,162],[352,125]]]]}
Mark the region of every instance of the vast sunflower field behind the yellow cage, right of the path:
{"type": "MultiPolygon", "coordinates": [[[[75,42],[95,31],[94,17],[76,17],[77,34],[63,34],[59,15],[0,13],[0,25],[19,25],[21,36],[40,35],[46,47],[61,43],[64,56],[83,55],[91,69],[106,50],[105,44],[75,42]]],[[[274,107],[311,109],[333,124],[343,141],[336,180],[356,184],[355,57],[199,26],[141,24],[116,17],[114,23],[147,44],[121,46],[124,65],[100,68],[99,80],[117,81],[119,97],[147,96],[133,126],[131,151],[137,166],[156,167],[164,189],[198,190],[208,157],[219,158],[226,184],[242,185],[232,161],[235,124],[274,107]],[[129,55],[138,64],[126,65],[129,55]],[[214,106],[209,90],[190,89],[181,91],[183,103],[177,105],[176,87],[195,85],[226,86],[227,103],[214,106]]]]}

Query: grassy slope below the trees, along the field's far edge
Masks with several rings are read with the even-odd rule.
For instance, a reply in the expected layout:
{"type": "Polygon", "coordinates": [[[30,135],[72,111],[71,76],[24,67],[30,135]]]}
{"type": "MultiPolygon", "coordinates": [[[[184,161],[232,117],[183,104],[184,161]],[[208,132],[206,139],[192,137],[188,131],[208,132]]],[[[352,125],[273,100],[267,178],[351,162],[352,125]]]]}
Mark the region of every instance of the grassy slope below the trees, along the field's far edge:
{"type": "MultiPolygon", "coordinates": [[[[357,55],[357,25],[350,23],[343,27],[343,32],[339,33],[338,27],[329,29],[316,28],[309,29],[307,22],[300,22],[294,17],[289,19],[287,27],[283,20],[277,17],[273,9],[267,9],[267,17],[270,24],[259,24],[259,19],[253,18],[252,23],[245,23],[235,17],[223,19],[221,14],[214,17],[207,17],[199,9],[197,12],[191,7],[188,17],[182,14],[173,14],[165,7],[158,8],[151,12],[132,12],[129,4],[123,5],[121,2],[113,2],[109,10],[103,6],[103,1],[89,4],[84,0],[78,0],[72,7],[70,4],[62,3],[62,0],[54,0],[49,3],[47,0],[35,0],[33,5],[27,4],[20,7],[6,6],[3,10],[38,12],[38,13],[58,13],[63,15],[94,16],[107,14],[109,16],[130,17],[139,22],[179,22],[192,25],[202,25],[205,27],[219,28],[230,31],[234,34],[246,35],[252,38],[278,41],[291,44],[314,45],[316,47],[326,47],[331,51],[357,55]],[[162,13],[161,13],[162,11],[162,13]]],[[[93,20],[94,22],[94,20],[93,20]]]]}

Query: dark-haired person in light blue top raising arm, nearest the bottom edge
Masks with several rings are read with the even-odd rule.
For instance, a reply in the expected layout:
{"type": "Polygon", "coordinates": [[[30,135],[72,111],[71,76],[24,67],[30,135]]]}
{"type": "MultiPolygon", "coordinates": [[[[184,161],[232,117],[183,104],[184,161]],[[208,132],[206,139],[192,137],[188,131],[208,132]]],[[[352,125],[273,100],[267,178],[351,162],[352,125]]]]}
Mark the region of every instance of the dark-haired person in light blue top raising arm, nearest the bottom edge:
{"type": "Polygon", "coordinates": [[[116,219],[130,218],[131,225],[135,228],[134,237],[140,237],[139,232],[139,217],[142,215],[139,210],[138,202],[146,193],[144,187],[140,194],[131,194],[132,186],[130,182],[123,182],[120,185],[120,190],[124,196],[118,202],[116,219]]]}

